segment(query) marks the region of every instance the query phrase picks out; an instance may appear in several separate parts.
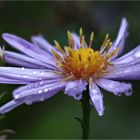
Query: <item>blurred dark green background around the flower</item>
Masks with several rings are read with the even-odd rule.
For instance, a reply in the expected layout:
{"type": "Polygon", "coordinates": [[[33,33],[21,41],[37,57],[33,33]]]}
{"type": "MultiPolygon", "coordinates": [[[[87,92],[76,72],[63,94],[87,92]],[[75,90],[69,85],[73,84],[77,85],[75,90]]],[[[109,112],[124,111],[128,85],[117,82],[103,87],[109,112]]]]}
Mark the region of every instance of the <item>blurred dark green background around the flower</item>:
{"type": "MultiPolygon", "coordinates": [[[[95,48],[99,49],[106,33],[115,39],[122,17],[129,22],[129,37],[124,53],[140,43],[140,2],[0,2],[0,34],[9,32],[27,40],[43,34],[51,43],[56,39],[67,43],[66,32],[79,32],[86,38],[95,32],[95,48]]],[[[5,44],[6,49],[11,49],[5,44]]],[[[104,93],[105,115],[91,113],[90,138],[140,138],[140,82],[133,81],[133,95],[117,97],[104,93]]],[[[9,101],[16,85],[0,85],[0,105],[9,101]]],[[[79,122],[81,104],[62,93],[32,106],[22,105],[0,119],[0,130],[12,129],[14,139],[81,138],[79,122]]]]}

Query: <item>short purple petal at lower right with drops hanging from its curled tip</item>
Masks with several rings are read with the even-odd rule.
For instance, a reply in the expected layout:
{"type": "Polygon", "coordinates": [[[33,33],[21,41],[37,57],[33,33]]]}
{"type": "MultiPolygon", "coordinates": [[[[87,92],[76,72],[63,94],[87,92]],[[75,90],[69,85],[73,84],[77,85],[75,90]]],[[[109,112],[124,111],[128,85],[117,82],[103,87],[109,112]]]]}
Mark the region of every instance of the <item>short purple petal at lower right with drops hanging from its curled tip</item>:
{"type": "Polygon", "coordinates": [[[112,92],[117,96],[122,93],[129,96],[132,94],[132,85],[130,83],[117,82],[108,79],[99,79],[96,83],[106,91],[112,92]]]}

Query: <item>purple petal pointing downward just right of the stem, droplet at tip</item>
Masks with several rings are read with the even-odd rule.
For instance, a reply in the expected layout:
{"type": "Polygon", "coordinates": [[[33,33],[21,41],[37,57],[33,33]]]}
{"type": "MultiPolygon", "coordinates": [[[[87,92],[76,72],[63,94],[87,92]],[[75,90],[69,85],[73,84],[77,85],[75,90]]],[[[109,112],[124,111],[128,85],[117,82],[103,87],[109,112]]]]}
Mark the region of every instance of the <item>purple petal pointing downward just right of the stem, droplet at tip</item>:
{"type": "Polygon", "coordinates": [[[99,116],[104,114],[103,95],[95,83],[89,84],[89,95],[99,116]]]}

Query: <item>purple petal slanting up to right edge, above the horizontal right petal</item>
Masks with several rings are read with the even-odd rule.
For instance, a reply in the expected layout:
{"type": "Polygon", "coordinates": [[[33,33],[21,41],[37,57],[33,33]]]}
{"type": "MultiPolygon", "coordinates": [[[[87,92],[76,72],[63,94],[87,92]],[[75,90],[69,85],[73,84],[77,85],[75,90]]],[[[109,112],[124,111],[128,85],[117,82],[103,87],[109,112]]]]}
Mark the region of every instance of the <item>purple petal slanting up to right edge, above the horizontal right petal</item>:
{"type": "Polygon", "coordinates": [[[130,64],[130,63],[139,63],[140,64],[140,45],[138,45],[135,49],[130,51],[129,53],[123,55],[122,57],[113,61],[116,64],[130,64]]]}

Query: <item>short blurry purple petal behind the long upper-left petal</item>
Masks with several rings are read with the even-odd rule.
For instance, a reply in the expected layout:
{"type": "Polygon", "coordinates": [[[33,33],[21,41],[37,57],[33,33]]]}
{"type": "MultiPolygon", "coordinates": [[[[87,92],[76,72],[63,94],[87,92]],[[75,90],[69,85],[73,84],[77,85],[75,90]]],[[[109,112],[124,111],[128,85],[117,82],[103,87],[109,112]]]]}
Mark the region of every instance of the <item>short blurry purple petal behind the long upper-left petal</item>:
{"type": "Polygon", "coordinates": [[[63,57],[62,53],[54,48],[42,35],[32,36],[31,40],[33,44],[48,52],[50,55],[52,55],[52,50],[54,50],[63,57]]]}

